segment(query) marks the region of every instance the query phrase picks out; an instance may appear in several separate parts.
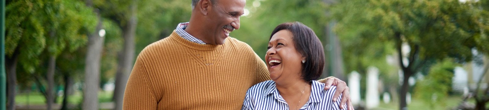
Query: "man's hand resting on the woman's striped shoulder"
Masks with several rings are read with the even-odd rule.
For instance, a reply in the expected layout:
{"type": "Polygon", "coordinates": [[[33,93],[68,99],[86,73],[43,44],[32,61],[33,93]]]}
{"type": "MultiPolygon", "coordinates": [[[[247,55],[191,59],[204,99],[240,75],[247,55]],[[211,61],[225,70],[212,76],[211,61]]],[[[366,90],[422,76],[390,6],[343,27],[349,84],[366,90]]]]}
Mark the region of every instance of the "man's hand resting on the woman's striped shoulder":
{"type": "MultiPolygon", "coordinates": [[[[336,101],[341,93],[343,93],[341,97],[341,103],[340,105],[344,105],[345,103],[347,104],[347,109],[348,110],[354,110],[352,106],[352,99],[350,98],[350,88],[346,85],[344,81],[341,81],[338,78],[335,78],[333,76],[330,76],[326,78],[326,81],[323,82],[325,84],[324,89],[328,90],[331,88],[331,86],[336,86],[336,92],[334,93],[333,96],[333,101],[336,101]]],[[[340,109],[343,109],[343,106],[340,106],[340,109]]]]}

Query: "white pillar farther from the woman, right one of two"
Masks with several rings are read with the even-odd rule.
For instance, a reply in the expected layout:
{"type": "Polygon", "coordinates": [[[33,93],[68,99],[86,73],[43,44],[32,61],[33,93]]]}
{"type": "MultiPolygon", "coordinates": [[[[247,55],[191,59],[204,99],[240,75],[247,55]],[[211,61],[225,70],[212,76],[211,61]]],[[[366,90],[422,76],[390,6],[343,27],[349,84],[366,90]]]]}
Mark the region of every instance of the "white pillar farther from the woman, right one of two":
{"type": "Polygon", "coordinates": [[[378,68],[370,66],[367,68],[367,94],[366,94],[367,109],[377,107],[379,104],[378,93],[378,68]]]}

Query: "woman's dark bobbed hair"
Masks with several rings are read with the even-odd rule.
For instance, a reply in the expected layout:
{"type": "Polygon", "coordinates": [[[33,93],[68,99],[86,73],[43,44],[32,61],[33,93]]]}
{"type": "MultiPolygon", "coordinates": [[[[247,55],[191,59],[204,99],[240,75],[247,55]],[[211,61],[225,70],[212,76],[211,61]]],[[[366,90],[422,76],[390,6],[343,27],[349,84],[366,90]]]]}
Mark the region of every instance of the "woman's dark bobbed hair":
{"type": "Polygon", "coordinates": [[[314,31],[301,22],[286,22],[273,29],[270,39],[280,30],[292,32],[295,49],[306,58],[306,63],[302,64],[302,79],[306,81],[317,80],[323,73],[324,49],[314,31]]]}

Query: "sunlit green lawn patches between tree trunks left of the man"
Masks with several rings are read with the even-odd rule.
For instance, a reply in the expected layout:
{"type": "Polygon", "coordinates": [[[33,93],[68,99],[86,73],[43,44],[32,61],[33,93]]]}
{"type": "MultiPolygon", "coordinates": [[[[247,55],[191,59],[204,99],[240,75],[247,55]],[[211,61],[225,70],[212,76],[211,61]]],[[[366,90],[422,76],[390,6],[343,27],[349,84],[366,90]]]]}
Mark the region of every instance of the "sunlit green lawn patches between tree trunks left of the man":
{"type": "MultiPolygon", "coordinates": [[[[112,91],[99,91],[98,92],[98,101],[100,103],[103,102],[111,102],[112,100],[112,91]]],[[[72,95],[68,97],[68,103],[70,104],[80,104],[83,99],[82,92],[76,91],[72,95]]],[[[16,105],[42,105],[45,104],[45,98],[40,92],[31,92],[27,95],[27,93],[20,93],[15,96],[16,105]]],[[[63,103],[63,96],[58,96],[57,100],[58,104],[63,103]]]]}

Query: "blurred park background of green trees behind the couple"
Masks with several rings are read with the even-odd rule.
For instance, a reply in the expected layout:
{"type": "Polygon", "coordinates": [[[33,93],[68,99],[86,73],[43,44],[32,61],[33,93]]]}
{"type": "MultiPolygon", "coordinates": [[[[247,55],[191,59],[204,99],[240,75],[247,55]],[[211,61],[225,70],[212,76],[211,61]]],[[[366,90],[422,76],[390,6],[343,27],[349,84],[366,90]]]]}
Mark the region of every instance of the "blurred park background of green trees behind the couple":
{"type": "MultiPolygon", "coordinates": [[[[191,0],[6,0],[6,110],[121,110],[135,58],[191,0]]],[[[489,0],[246,0],[230,33],[262,58],[302,22],[356,110],[488,110],[489,0]]],[[[4,108],[0,108],[3,110],[4,108]]]]}

